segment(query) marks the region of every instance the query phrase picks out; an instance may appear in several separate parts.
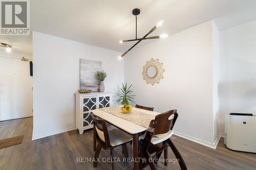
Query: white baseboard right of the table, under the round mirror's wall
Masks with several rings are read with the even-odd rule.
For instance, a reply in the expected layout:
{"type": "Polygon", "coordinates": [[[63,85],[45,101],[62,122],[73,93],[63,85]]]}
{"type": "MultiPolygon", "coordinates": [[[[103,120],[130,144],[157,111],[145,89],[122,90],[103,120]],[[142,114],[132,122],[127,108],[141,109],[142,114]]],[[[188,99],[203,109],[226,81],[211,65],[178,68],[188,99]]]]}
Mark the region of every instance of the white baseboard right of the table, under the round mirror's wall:
{"type": "Polygon", "coordinates": [[[197,142],[199,144],[203,144],[206,147],[209,147],[209,148],[212,148],[212,149],[216,149],[216,147],[217,147],[217,145],[220,141],[220,138],[224,136],[223,133],[219,133],[219,135],[216,138],[216,140],[214,141],[214,143],[211,143],[211,142],[208,142],[208,141],[205,141],[205,140],[201,140],[201,139],[198,139],[198,138],[195,138],[195,137],[192,137],[192,136],[185,135],[185,134],[180,133],[180,132],[176,132],[176,131],[174,131],[174,134],[177,135],[177,136],[180,136],[182,138],[197,142]]]}

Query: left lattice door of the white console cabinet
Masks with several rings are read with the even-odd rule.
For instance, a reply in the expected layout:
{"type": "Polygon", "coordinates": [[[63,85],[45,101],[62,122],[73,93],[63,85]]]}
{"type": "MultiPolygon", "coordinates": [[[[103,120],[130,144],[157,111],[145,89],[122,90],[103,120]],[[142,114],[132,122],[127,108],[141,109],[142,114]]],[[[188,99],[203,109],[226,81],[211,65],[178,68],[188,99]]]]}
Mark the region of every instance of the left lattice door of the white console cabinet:
{"type": "Polygon", "coordinates": [[[90,115],[91,110],[97,107],[97,96],[82,97],[82,127],[93,127],[93,119],[90,115]]]}

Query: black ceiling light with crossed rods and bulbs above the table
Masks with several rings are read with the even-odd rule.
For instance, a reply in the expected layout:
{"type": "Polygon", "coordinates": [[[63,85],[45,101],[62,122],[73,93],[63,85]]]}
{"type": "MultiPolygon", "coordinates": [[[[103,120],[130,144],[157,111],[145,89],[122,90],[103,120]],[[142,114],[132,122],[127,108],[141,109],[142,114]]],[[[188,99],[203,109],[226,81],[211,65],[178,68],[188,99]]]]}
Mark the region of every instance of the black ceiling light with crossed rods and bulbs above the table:
{"type": "Polygon", "coordinates": [[[156,35],[156,36],[151,36],[151,37],[147,37],[148,35],[150,35],[153,31],[155,31],[157,28],[159,28],[162,24],[163,24],[163,20],[159,21],[157,23],[156,26],[154,26],[150,31],[148,31],[148,33],[146,33],[146,35],[144,35],[142,38],[137,38],[137,15],[140,14],[140,9],[135,8],[133,9],[133,15],[135,15],[135,19],[136,19],[136,34],[135,34],[135,39],[129,39],[129,40],[121,40],[119,41],[120,43],[123,42],[129,42],[129,41],[137,41],[131,48],[129,48],[126,52],[124,52],[119,59],[121,59],[125,54],[127,54],[130,50],[132,50],[133,47],[135,47],[140,41],[142,40],[146,40],[146,39],[158,39],[158,38],[166,38],[168,37],[167,34],[162,34],[162,35],[156,35]]]}

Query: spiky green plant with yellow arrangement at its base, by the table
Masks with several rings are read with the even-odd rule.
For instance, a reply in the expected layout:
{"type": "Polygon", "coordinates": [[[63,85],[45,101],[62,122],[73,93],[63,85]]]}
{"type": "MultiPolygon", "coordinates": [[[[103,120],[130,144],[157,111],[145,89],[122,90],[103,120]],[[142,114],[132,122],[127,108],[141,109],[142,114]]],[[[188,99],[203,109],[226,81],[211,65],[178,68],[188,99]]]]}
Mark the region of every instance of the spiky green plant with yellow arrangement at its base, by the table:
{"type": "Polygon", "coordinates": [[[116,93],[116,95],[119,98],[117,100],[117,102],[120,103],[120,105],[123,105],[121,107],[121,110],[123,113],[129,113],[132,111],[132,106],[130,105],[130,102],[134,103],[133,96],[135,96],[135,94],[132,94],[133,91],[131,90],[131,86],[132,86],[132,84],[129,87],[127,87],[126,83],[125,83],[125,85],[122,83],[122,88],[121,88],[120,92],[116,93]]]}

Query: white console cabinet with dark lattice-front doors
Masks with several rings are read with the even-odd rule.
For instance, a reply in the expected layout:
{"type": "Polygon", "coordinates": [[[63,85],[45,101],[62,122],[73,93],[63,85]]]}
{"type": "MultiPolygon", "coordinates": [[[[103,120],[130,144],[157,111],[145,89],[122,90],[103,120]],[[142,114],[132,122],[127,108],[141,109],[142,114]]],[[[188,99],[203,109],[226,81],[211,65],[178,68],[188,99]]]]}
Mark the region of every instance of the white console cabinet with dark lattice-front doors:
{"type": "Polygon", "coordinates": [[[93,120],[90,115],[91,110],[112,105],[112,93],[92,92],[86,94],[76,94],[76,128],[82,134],[84,130],[93,128],[93,120]]]}

